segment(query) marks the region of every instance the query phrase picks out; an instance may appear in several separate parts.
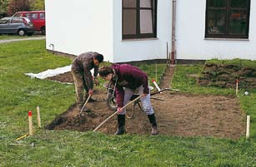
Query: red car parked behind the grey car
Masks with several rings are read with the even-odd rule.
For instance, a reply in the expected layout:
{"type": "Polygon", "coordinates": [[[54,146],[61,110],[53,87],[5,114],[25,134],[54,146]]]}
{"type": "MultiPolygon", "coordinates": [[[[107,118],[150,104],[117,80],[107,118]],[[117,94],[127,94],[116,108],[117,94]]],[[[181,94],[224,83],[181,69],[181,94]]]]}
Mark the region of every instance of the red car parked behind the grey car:
{"type": "Polygon", "coordinates": [[[27,17],[31,22],[36,32],[45,34],[45,12],[44,11],[30,11],[30,12],[16,12],[14,17],[27,17]]]}

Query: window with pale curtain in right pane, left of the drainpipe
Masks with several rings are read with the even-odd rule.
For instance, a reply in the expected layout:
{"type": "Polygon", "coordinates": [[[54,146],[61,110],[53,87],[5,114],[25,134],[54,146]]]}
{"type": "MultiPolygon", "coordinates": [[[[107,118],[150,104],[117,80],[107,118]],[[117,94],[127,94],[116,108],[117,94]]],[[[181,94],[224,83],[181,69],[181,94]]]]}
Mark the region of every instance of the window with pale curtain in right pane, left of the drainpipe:
{"type": "Polygon", "coordinates": [[[123,39],[156,37],[157,0],[123,0],[123,39]]]}

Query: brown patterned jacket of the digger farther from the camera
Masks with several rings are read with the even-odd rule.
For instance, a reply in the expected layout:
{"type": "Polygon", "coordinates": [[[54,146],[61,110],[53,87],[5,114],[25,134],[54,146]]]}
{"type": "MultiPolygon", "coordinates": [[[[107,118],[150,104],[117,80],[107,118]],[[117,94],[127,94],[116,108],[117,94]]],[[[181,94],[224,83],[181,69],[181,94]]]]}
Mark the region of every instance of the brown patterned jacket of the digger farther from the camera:
{"type": "Polygon", "coordinates": [[[93,76],[98,76],[98,66],[94,66],[93,57],[98,52],[84,52],[73,60],[72,71],[83,75],[88,89],[93,89],[93,76]],[[94,75],[91,70],[94,68],[94,75]]]}

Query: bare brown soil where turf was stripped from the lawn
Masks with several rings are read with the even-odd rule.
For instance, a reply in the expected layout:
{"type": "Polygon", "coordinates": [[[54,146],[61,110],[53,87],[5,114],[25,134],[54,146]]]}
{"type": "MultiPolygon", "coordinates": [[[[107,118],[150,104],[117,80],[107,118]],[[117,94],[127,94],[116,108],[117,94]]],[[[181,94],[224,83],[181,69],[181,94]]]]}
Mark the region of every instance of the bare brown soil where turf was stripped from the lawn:
{"type": "MultiPolygon", "coordinates": [[[[174,67],[169,67],[163,74],[161,88],[168,87],[174,67]]],[[[73,82],[70,72],[48,78],[54,81],[73,82]]],[[[48,130],[94,130],[103,120],[113,114],[106,104],[107,91],[96,87],[93,93],[98,101],[88,103],[91,112],[80,115],[73,105],[63,114],[58,115],[49,125],[48,130]]],[[[164,91],[153,97],[164,101],[151,100],[158,120],[161,135],[173,136],[213,136],[236,140],[245,134],[243,112],[238,99],[230,96],[188,95],[164,91]]],[[[132,111],[129,106],[127,111],[132,111]]],[[[113,135],[117,129],[117,116],[113,116],[98,131],[113,135]]],[[[126,119],[127,134],[149,135],[148,117],[138,106],[132,119],[126,119]]]]}

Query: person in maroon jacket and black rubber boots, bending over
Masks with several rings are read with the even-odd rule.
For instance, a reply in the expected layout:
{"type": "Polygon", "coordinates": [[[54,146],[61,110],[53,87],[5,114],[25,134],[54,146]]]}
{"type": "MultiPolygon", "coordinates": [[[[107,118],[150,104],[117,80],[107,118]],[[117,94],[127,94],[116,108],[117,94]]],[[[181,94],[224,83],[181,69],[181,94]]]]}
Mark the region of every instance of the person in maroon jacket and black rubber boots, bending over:
{"type": "Polygon", "coordinates": [[[115,135],[125,133],[125,106],[134,93],[143,95],[141,102],[143,111],[148,115],[148,120],[152,125],[151,135],[158,135],[158,125],[150,102],[150,92],[148,89],[148,76],[136,66],[128,64],[113,64],[103,66],[98,70],[99,76],[104,80],[111,81],[115,86],[118,103],[118,130],[115,135]]]}

